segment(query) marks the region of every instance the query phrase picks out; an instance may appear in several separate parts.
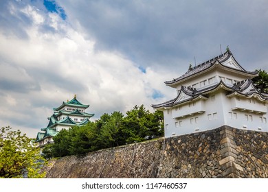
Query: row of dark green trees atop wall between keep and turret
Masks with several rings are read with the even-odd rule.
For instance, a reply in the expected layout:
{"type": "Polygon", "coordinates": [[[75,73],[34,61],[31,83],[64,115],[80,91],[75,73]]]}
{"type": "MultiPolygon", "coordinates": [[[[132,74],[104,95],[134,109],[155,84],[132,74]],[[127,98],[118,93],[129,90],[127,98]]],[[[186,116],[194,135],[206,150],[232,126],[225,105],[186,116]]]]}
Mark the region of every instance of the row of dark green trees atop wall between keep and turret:
{"type": "Polygon", "coordinates": [[[54,144],[43,149],[46,158],[86,154],[98,149],[146,141],[164,135],[163,112],[135,106],[126,112],[105,113],[96,122],[60,130],[54,144]]]}

